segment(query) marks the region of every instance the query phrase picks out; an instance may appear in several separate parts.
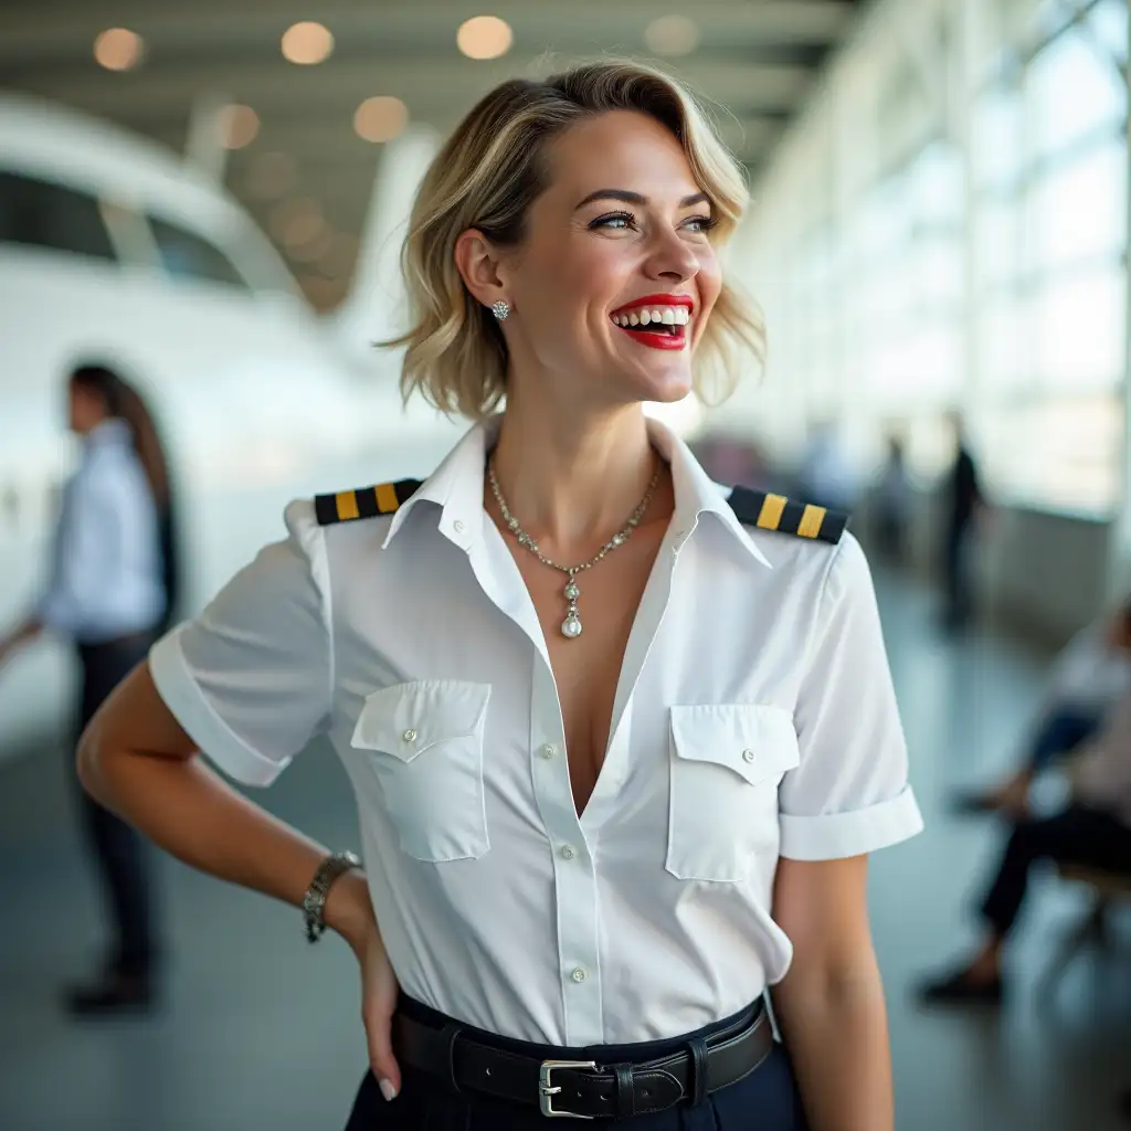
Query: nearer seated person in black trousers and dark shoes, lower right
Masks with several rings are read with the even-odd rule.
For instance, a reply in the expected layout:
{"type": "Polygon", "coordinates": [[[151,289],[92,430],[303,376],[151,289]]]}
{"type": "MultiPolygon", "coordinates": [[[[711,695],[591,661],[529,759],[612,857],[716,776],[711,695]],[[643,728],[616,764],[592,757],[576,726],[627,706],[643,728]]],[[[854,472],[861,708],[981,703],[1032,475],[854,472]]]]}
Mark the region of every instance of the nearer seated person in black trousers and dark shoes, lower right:
{"type": "Polygon", "coordinates": [[[924,1002],[998,1002],[1002,950],[1039,860],[1131,874],[1131,692],[1112,710],[1072,772],[1071,802],[1059,813],[1015,827],[982,903],[988,927],[976,953],[951,973],[926,982],[924,1002]]]}

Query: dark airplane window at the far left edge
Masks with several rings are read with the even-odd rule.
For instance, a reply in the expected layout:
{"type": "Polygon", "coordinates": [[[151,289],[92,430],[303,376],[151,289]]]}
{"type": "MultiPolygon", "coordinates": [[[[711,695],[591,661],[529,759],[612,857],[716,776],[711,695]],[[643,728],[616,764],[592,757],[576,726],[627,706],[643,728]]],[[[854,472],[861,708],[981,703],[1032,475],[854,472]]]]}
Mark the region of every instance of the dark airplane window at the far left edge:
{"type": "Polygon", "coordinates": [[[114,258],[93,196],[20,173],[0,172],[0,243],[114,258]]]}

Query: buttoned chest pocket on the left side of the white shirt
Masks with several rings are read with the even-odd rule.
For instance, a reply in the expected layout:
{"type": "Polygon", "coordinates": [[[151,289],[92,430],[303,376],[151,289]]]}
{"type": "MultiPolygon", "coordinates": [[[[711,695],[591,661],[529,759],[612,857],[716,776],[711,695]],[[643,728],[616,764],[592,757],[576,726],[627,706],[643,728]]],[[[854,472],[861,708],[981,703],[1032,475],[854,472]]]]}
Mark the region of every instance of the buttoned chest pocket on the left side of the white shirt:
{"type": "Polygon", "coordinates": [[[381,783],[400,847],[441,863],[490,847],[483,796],[489,683],[422,680],[365,698],[351,744],[381,783]]]}

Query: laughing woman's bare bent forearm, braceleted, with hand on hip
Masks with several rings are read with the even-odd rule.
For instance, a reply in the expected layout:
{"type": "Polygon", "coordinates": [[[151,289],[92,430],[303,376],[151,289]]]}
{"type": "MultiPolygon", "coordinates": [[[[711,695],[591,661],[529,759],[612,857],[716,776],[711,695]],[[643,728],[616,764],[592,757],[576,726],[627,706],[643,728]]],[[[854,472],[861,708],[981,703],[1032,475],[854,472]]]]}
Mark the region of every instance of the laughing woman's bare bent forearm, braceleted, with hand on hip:
{"type": "MultiPolygon", "coordinates": [[[[250,802],[200,758],[98,749],[84,739],[79,770],[87,791],[191,867],[301,906],[327,849],[250,802]]],[[[330,889],[327,923],[355,949],[373,926],[364,878],[330,889]]]]}

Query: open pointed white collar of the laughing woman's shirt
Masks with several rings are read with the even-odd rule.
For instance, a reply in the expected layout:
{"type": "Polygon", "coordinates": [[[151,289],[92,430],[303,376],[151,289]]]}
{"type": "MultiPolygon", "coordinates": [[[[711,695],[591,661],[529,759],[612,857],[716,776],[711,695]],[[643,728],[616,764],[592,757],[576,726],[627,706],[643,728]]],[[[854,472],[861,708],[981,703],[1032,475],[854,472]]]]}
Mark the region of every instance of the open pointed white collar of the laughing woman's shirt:
{"type": "MultiPolygon", "coordinates": [[[[473,425],[448,454],[443,463],[424,481],[416,493],[397,509],[389,524],[382,549],[400,529],[408,512],[421,502],[438,503],[440,532],[464,550],[483,536],[483,524],[490,521],[483,508],[483,476],[487,452],[494,446],[502,424],[502,415],[487,417],[473,425]]],[[[717,517],[723,528],[731,533],[758,562],[772,569],[766,555],[754,545],[746,528],[739,521],[727,501],[731,489],[715,483],[702,469],[691,449],[671,429],[655,420],[647,420],[648,437],[656,450],[672,468],[675,489],[675,513],[672,526],[680,542],[690,537],[701,515],[717,517]]]]}

